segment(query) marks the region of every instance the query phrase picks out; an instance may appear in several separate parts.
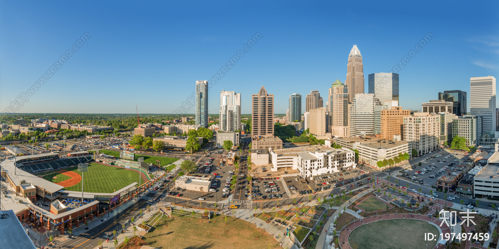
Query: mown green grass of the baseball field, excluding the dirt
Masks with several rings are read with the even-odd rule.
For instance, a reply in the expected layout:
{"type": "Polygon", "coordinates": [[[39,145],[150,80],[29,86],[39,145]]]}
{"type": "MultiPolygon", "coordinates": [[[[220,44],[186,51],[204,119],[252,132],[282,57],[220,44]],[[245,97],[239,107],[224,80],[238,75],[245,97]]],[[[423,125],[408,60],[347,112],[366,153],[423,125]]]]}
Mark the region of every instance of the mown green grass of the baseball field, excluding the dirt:
{"type": "MultiPolygon", "coordinates": [[[[81,172],[78,172],[78,167],[71,167],[66,170],[73,171],[81,175],[81,172]]],[[[52,173],[44,176],[43,178],[52,182],[60,182],[59,177],[66,177],[66,179],[69,179],[68,176],[58,173],[52,173]],[[53,179],[53,176],[57,176],[57,178],[53,179]]],[[[144,177],[145,176],[142,178],[144,177]]],[[[128,170],[126,168],[117,168],[105,166],[99,163],[90,163],[88,166],[88,172],[85,172],[83,175],[83,191],[92,193],[112,193],[134,182],[139,182],[138,172],[128,170]]],[[[64,189],[70,191],[81,191],[81,182],[64,189]]]]}

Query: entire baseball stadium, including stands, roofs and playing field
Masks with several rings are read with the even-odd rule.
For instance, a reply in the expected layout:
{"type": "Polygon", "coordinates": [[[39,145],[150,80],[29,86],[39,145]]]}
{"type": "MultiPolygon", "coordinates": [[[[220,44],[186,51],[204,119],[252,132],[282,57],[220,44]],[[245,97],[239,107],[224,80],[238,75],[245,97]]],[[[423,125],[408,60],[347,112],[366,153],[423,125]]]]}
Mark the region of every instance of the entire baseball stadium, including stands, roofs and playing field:
{"type": "Polygon", "coordinates": [[[1,208],[37,227],[41,233],[28,233],[39,240],[112,212],[158,179],[145,162],[81,152],[12,157],[0,166],[2,194],[10,196],[1,208]]]}

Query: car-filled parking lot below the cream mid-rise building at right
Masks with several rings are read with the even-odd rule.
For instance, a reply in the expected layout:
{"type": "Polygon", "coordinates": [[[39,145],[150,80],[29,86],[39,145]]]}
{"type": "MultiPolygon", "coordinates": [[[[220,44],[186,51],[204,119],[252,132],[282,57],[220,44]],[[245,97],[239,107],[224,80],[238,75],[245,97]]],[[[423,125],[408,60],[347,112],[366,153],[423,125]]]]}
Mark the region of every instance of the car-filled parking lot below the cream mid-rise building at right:
{"type": "MultiPolygon", "coordinates": [[[[419,183],[424,186],[433,186],[437,184],[437,179],[447,171],[452,172],[455,165],[459,164],[458,158],[454,154],[441,152],[427,161],[421,162],[421,166],[413,165],[411,168],[403,170],[398,177],[405,178],[413,183],[419,183]]],[[[402,186],[405,184],[400,183],[402,186]]]]}

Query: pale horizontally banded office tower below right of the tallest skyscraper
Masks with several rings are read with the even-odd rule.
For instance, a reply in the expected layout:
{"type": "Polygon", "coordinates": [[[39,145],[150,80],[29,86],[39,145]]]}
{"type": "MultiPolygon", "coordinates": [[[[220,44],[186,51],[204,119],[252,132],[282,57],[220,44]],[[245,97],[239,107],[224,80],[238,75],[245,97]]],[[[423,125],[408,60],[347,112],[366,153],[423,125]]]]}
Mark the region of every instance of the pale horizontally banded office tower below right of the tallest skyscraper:
{"type": "MultiPolygon", "coordinates": [[[[350,87],[348,87],[350,91],[350,87]]],[[[374,108],[380,103],[374,94],[356,94],[350,105],[350,136],[374,134],[374,108]]]]}

